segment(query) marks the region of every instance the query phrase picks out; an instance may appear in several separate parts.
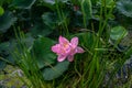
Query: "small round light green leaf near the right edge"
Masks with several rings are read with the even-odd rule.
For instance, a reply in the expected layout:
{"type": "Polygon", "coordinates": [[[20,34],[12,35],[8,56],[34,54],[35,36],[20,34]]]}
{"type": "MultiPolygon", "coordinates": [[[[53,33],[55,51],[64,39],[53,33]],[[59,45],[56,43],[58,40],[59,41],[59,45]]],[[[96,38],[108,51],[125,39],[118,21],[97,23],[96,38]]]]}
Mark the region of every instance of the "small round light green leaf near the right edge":
{"type": "Polygon", "coordinates": [[[110,38],[118,41],[123,38],[128,34],[128,31],[123,26],[114,26],[111,29],[110,38]]]}

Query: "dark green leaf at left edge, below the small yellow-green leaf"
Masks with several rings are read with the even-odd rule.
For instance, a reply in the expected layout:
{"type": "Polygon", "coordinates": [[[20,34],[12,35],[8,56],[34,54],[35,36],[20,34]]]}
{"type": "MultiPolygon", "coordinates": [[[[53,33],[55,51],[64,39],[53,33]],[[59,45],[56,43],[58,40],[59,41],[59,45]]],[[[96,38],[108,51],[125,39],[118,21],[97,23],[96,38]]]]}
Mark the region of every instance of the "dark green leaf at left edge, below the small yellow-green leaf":
{"type": "Polygon", "coordinates": [[[16,21],[16,18],[13,16],[11,12],[4,12],[2,16],[0,16],[0,32],[6,33],[8,29],[16,21]]]}

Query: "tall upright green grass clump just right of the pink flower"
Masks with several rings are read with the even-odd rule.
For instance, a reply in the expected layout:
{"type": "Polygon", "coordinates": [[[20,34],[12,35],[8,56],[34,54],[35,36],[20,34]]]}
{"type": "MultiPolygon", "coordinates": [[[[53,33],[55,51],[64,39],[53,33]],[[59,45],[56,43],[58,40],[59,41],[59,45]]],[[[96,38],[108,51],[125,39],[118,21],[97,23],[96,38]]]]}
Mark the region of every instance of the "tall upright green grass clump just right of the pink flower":
{"type": "MultiPolygon", "coordinates": [[[[84,25],[85,25],[84,28],[87,29],[87,20],[88,20],[87,14],[89,14],[89,13],[87,13],[88,11],[85,11],[86,3],[84,3],[84,2],[88,2],[87,9],[92,8],[92,6],[91,6],[91,0],[82,0],[81,4],[80,4],[81,11],[84,14],[84,25]]],[[[80,67],[84,69],[84,72],[80,76],[81,77],[80,78],[80,85],[81,85],[80,87],[81,88],[98,88],[102,84],[103,78],[106,76],[106,67],[107,67],[106,61],[108,58],[102,58],[102,56],[103,56],[103,53],[106,52],[107,47],[103,48],[102,43],[100,42],[100,38],[101,38],[105,28],[107,26],[107,22],[109,19],[108,15],[112,13],[113,6],[114,4],[112,4],[111,9],[107,13],[106,12],[106,10],[107,10],[106,0],[101,0],[99,29],[98,29],[98,32],[96,33],[98,36],[97,37],[95,37],[95,35],[92,36],[95,42],[92,43],[91,48],[87,48],[87,50],[91,50],[90,52],[92,53],[92,55],[87,53],[87,56],[85,58],[81,58],[81,59],[85,59],[84,61],[85,66],[80,67]],[[103,12],[106,12],[105,16],[102,16],[103,12]]],[[[95,30],[95,29],[91,29],[91,30],[95,30]]],[[[88,42],[88,40],[86,38],[85,43],[87,43],[87,42],[88,42]]]]}

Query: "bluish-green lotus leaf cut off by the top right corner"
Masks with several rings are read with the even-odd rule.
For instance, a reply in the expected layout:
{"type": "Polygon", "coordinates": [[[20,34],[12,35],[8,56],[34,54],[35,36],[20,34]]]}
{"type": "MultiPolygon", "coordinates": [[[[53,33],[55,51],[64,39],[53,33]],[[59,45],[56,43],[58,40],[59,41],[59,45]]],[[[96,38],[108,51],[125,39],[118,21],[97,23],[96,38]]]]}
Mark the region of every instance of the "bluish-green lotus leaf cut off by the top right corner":
{"type": "Polygon", "coordinates": [[[119,12],[125,16],[132,18],[132,1],[131,0],[119,0],[117,2],[117,8],[119,12]]]}

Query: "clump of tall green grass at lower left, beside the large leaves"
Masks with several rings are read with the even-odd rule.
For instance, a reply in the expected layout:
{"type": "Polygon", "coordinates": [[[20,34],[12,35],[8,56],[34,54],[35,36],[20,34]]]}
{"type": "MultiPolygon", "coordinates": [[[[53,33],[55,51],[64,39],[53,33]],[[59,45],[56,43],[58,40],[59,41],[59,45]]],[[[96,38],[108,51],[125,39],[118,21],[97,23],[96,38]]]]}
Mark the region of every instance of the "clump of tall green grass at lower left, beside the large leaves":
{"type": "Polygon", "coordinates": [[[25,38],[24,33],[20,31],[20,28],[14,28],[14,33],[18,41],[18,47],[12,55],[16,65],[22,69],[30,82],[25,81],[23,78],[21,78],[21,80],[24,81],[29,88],[51,88],[46,85],[42,73],[38,69],[36,57],[34,54],[31,54],[26,44],[23,42],[25,38]]]}

